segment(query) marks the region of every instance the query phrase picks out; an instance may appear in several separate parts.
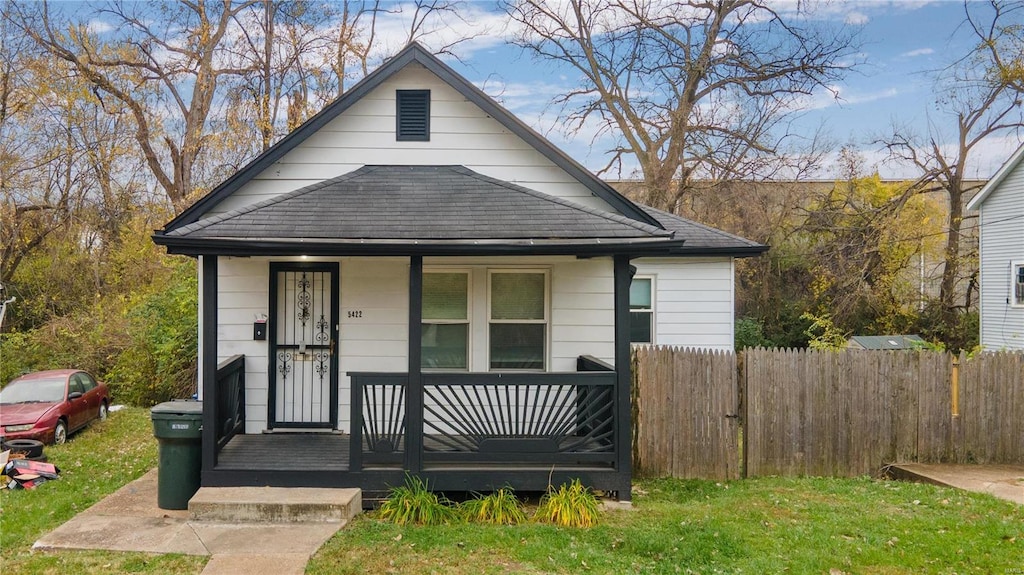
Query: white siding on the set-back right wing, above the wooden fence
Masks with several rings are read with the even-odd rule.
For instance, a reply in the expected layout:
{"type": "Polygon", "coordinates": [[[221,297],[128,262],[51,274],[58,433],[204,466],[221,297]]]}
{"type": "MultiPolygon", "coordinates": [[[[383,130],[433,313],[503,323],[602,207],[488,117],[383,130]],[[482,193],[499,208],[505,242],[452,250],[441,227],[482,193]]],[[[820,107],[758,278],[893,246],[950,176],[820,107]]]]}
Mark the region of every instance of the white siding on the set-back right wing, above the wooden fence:
{"type": "Polygon", "coordinates": [[[641,258],[632,263],[637,275],[654,278],[654,344],[733,349],[731,258],[641,258]]]}

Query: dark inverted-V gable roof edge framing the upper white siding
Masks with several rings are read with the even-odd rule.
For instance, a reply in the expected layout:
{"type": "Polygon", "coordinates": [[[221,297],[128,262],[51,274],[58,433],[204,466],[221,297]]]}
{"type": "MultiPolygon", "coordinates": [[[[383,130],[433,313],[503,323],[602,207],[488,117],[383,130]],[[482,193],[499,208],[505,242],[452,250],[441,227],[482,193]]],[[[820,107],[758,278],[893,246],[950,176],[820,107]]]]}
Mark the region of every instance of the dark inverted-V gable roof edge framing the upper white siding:
{"type": "Polygon", "coordinates": [[[367,75],[366,78],[360,80],[350,90],[346,91],[318,114],[296,128],[280,142],[261,153],[247,166],[224,180],[216,188],[181,212],[181,214],[164,226],[164,231],[170,232],[178,227],[198,221],[205,213],[217,206],[217,204],[229,196],[232,192],[238,190],[261,172],[269,168],[274,162],[281,160],[286,153],[305,141],[306,138],[315,134],[329,122],[351,107],[352,104],[365,95],[373,91],[388,78],[412,62],[419,62],[424,68],[432,72],[435,76],[465,96],[466,99],[475,103],[510,132],[522,138],[544,157],[590,189],[591,193],[605,201],[621,214],[649,225],[658,225],[656,220],[650,218],[650,216],[644,213],[644,211],[641,210],[636,204],[630,202],[626,198],[626,196],[612,189],[611,186],[581,166],[577,161],[572,160],[565,154],[565,152],[555,147],[547,140],[547,138],[538,134],[532,128],[510,114],[482,90],[469,83],[469,81],[460,76],[436,56],[414,42],[383,65],[367,75]]]}

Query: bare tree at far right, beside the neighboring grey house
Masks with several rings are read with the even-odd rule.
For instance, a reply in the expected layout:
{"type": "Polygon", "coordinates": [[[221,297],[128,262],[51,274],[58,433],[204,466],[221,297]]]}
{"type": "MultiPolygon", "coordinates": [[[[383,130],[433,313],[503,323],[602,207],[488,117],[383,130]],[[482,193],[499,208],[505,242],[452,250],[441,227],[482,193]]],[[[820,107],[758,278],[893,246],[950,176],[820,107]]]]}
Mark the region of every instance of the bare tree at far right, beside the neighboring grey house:
{"type": "MultiPolygon", "coordinates": [[[[939,285],[941,335],[956,337],[959,313],[970,308],[968,298],[956,301],[965,278],[962,229],[964,205],[977,191],[965,183],[975,151],[986,140],[1017,134],[1024,128],[1020,76],[1008,62],[1020,62],[1021,54],[1001,48],[1020,49],[1019,18],[1024,3],[989,0],[987,4],[965,3],[967,29],[974,34],[975,48],[949,68],[935,75],[935,108],[925,134],[904,126],[879,139],[891,160],[908,164],[921,176],[912,191],[939,193],[948,202],[942,280],[939,285]],[[1014,40],[1016,38],[1016,40],[1014,40]]],[[[971,293],[971,290],[968,290],[971,293]]]]}

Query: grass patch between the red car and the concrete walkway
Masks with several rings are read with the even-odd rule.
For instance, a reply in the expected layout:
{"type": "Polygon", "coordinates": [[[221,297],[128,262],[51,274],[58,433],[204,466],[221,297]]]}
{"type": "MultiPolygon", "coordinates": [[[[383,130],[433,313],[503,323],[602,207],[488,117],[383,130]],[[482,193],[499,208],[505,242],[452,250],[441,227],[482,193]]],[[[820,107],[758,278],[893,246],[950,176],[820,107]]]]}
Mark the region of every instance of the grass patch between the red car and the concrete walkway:
{"type": "Polygon", "coordinates": [[[79,512],[157,466],[150,411],[111,413],[47,446],[60,479],[27,491],[0,491],[0,571],[4,573],[199,573],[208,558],[117,551],[34,551],[32,544],[79,512]]]}

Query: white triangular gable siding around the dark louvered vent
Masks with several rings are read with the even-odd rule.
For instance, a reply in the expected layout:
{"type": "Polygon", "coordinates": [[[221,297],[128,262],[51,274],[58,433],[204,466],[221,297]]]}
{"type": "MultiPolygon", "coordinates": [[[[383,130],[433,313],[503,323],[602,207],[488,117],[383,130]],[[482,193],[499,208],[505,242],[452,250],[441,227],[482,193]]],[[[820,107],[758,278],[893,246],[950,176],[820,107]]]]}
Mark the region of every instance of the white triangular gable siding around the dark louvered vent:
{"type": "Polygon", "coordinates": [[[208,215],[273,197],[365,165],[462,165],[612,212],[602,200],[419,64],[399,71],[208,215]],[[430,90],[430,141],[395,139],[395,90],[430,90]]]}

